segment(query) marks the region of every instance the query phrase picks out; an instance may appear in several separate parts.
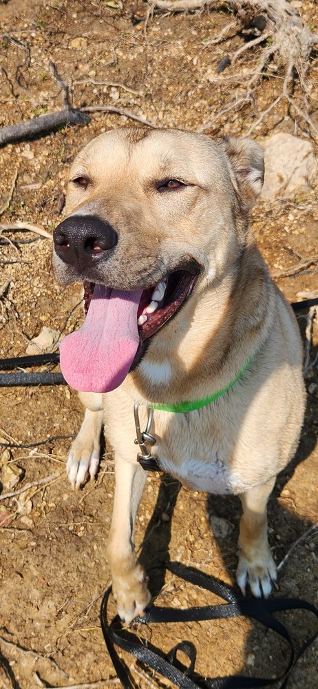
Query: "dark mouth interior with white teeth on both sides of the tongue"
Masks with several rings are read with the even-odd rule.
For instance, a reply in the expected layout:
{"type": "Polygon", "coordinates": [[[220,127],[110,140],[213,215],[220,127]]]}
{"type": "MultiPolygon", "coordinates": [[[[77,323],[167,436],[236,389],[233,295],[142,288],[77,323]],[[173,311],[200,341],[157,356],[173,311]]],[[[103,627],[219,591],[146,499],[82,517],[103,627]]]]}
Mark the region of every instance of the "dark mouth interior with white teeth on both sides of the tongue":
{"type": "MultiPolygon", "coordinates": [[[[177,270],[160,280],[155,287],[144,289],[140,297],[137,325],[140,342],[156,333],[167,320],[174,316],[187,300],[198,279],[199,270],[191,266],[188,270],[177,270]]],[[[84,282],[85,316],[94,294],[95,283],[84,282]]]]}

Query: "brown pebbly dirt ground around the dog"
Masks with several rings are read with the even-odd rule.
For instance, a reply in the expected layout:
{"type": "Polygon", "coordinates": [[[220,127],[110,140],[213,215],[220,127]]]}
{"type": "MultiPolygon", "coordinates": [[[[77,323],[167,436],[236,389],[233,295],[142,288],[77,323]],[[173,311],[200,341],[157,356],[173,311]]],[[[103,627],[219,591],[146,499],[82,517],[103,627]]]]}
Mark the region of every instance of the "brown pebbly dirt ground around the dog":
{"type": "MultiPolygon", "coordinates": [[[[317,4],[294,4],[317,31],[317,4]]],[[[208,124],[223,110],[208,133],[248,131],[275,98],[282,72],[278,66],[273,78],[262,82],[252,104],[226,112],[227,105],[240,96],[244,75],[255,68],[262,51],[262,45],[257,45],[242,55],[235,70],[215,74],[224,54],[244,45],[244,36],[235,30],[226,43],[206,45],[231,21],[226,3],[219,3],[218,11],[154,13],[147,26],[138,21],[146,14],[147,5],[140,0],[1,3],[0,125],[59,110],[61,88],[49,70],[52,60],[70,85],[74,106],[113,105],[156,125],[187,130],[208,124]],[[241,75],[239,83],[231,79],[234,72],[241,75]]],[[[294,92],[299,107],[310,108],[316,127],[317,70],[317,61],[312,60],[307,104],[297,83],[294,92]]],[[[253,136],[262,141],[275,130],[308,137],[306,121],[290,110],[280,101],[255,127],[253,136]]],[[[95,113],[88,125],[61,128],[0,149],[0,212],[6,207],[1,222],[23,220],[52,231],[63,217],[67,168],[76,152],[96,134],[127,125],[131,120],[125,116],[95,113]]],[[[316,199],[317,181],[295,198],[258,203],[253,210],[257,243],[275,275],[316,254],[316,264],[291,276],[275,277],[290,301],[297,300],[299,291],[318,290],[316,199]]],[[[11,240],[1,244],[0,260],[0,356],[8,358],[22,356],[43,326],[68,333],[81,324],[83,316],[80,287],[65,289],[54,279],[50,240],[25,231],[3,232],[2,237],[11,240]],[[30,239],[35,240],[12,243],[30,239]]],[[[305,316],[299,316],[303,334],[305,316]]],[[[317,324],[312,335],[310,360],[317,353],[317,324]]],[[[308,406],[299,450],[277,478],[268,515],[277,563],[305,535],[286,559],[274,595],[300,597],[317,605],[317,531],[307,533],[317,523],[317,366],[310,369],[306,384],[308,406]]],[[[109,584],[104,553],[114,494],[112,449],[106,442],[96,482],[72,491],[65,460],[81,415],[76,393],[63,385],[1,388],[0,500],[6,493],[34,484],[0,502],[0,687],[5,689],[119,684],[99,621],[100,597],[109,584]],[[67,438],[42,444],[63,435],[67,438]],[[6,449],[5,444],[19,447],[6,449]]],[[[136,544],[158,604],[202,605],[208,602],[206,593],[165,572],[164,563],[169,558],[180,560],[234,584],[239,501],[178,488],[168,477],[160,487],[160,479],[149,476],[138,513],[136,544]],[[211,517],[221,518],[221,535],[211,533],[211,517]]],[[[209,600],[215,602],[215,597],[209,600]]],[[[288,625],[296,647],[315,628],[310,613],[279,617],[288,625]]],[[[165,652],[181,639],[191,639],[198,650],[196,668],[205,677],[239,672],[275,676],[284,667],[287,653],[286,645],[273,633],[242,618],[177,628],[138,628],[137,633],[165,652]]],[[[126,661],[136,686],[169,686],[151,673],[146,675],[130,657],[126,661]]],[[[317,646],[310,647],[299,661],[288,686],[317,689],[317,646]]]]}

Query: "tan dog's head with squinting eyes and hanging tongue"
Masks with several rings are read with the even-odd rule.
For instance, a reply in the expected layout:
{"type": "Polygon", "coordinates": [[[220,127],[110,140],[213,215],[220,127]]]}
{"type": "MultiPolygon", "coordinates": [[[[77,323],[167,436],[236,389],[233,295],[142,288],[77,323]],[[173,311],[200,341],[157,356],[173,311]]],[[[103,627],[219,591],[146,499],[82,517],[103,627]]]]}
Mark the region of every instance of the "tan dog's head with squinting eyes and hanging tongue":
{"type": "Polygon", "coordinates": [[[61,349],[73,387],[117,387],[140,342],[178,313],[193,290],[205,289],[235,264],[263,174],[261,149],[244,139],[128,129],[102,134],[84,148],[70,171],[67,218],[54,232],[54,267],[66,284],[98,285],[89,307],[91,330],[114,347],[106,356],[100,344],[94,382],[90,373],[89,380],[86,373],[85,380],[82,374],[74,380],[69,370],[76,347],[88,352],[85,371],[93,358],[87,333],[84,344],[74,333],[72,347],[61,349]],[[96,381],[105,364],[112,382],[96,381]]]}

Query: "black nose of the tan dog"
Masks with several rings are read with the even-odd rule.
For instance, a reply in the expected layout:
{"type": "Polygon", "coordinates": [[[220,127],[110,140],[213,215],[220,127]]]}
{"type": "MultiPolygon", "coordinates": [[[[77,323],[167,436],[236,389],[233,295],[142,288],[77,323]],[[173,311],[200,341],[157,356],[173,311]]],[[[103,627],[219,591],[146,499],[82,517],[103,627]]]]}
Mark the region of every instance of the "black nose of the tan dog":
{"type": "Polygon", "coordinates": [[[79,269],[107,258],[117,241],[114,227],[95,216],[70,216],[54,229],[57,256],[79,269]]]}

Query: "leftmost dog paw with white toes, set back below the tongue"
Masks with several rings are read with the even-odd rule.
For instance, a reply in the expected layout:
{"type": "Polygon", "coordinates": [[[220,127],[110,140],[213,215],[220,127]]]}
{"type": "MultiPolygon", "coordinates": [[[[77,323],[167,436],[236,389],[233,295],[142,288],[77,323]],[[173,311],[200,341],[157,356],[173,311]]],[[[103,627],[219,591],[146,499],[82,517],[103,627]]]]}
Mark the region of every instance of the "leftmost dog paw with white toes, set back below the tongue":
{"type": "Polygon", "coordinates": [[[80,488],[87,475],[94,478],[99,464],[99,446],[82,443],[77,437],[66,462],[66,473],[72,488],[80,488]]]}

